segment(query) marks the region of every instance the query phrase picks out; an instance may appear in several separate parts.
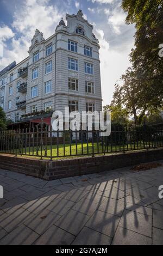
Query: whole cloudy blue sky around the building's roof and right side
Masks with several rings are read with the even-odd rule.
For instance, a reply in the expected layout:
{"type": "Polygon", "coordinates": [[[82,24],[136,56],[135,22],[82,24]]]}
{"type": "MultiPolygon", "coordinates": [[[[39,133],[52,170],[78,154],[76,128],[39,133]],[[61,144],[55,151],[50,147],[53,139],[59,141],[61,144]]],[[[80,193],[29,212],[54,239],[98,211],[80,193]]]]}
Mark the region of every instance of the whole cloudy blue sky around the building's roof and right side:
{"type": "MultiPolygon", "coordinates": [[[[30,40],[39,29],[46,39],[55,32],[61,17],[77,14],[93,25],[99,39],[103,106],[110,104],[114,85],[131,65],[129,53],[134,47],[134,25],[126,25],[127,14],[121,0],[0,0],[0,70],[28,56],[30,40]]],[[[66,21],[65,21],[66,22],[66,21]]]]}

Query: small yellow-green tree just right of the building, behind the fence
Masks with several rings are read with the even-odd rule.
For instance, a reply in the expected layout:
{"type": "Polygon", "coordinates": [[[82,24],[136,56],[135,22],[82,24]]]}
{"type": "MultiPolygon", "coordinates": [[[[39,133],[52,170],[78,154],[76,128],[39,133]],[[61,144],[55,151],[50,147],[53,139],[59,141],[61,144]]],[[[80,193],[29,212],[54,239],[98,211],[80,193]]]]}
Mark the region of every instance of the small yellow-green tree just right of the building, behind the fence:
{"type": "Polygon", "coordinates": [[[111,111],[111,122],[117,124],[127,125],[129,122],[129,116],[125,109],[120,104],[118,105],[106,105],[103,107],[104,111],[111,111]]]}

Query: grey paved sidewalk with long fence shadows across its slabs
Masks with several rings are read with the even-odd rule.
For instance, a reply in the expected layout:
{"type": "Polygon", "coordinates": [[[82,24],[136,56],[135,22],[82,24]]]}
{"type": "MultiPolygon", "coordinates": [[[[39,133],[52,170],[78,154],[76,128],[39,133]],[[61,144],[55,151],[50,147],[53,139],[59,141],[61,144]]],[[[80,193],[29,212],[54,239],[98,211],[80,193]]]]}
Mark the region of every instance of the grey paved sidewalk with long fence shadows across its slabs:
{"type": "Polygon", "coordinates": [[[0,245],[163,245],[163,166],[54,181],[0,169],[0,185],[0,245]]]}

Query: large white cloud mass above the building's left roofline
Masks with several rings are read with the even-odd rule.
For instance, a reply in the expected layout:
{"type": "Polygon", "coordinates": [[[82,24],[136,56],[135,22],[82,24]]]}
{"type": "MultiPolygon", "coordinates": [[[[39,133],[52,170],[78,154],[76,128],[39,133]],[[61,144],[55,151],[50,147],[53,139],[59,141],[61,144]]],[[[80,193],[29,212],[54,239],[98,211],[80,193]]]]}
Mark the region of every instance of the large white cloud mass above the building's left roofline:
{"type": "MultiPolygon", "coordinates": [[[[65,13],[64,13],[65,15],[65,13]]],[[[7,66],[12,61],[20,62],[28,56],[30,40],[33,38],[35,29],[43,32],[48,38],[55,33],[63,14],[56,7],[49,5],[49,0],[26,0],[14,13],[14,21],[11,28],[16,29],[20,37],[17,39],[7,26],[0,28],[0,39],[12,39],[10,49],[4,44],[4,57],[0,59],[1,66],[7,66]]]]}

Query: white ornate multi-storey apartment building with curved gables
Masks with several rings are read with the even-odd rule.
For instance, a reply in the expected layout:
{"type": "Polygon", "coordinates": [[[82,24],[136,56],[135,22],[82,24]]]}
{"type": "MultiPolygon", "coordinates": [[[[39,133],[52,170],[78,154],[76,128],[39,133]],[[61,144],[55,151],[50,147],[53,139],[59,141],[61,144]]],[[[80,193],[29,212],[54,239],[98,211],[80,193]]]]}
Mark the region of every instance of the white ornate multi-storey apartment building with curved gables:
{"type": "Polygon", "coordinates": [[[50,124],[52,112],[101,111],[99,42],[93,26],[77,15],[66,14],[48,39],[38,29],[28,57],[0,72],[1,106],[16,125],[50,124]],[[5,82],[4,82],[5,81],[5,82]]]}

